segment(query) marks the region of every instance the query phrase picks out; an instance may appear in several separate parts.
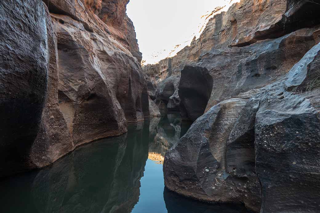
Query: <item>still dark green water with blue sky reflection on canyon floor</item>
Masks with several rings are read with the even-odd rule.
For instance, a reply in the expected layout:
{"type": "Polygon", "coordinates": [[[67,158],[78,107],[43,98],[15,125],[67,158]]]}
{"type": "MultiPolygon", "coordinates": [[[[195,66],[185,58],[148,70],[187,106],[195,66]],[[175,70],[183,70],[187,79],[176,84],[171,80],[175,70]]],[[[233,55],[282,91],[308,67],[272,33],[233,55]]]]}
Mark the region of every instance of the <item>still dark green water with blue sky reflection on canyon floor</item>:
{"type": "Polygon", "coordinates": [[[169,114],[128,126],[128,133],[81,146],[42,170],[0,181],[0,212],[246,212],[205,204],[164,188],[163,160],[190,127],[169,114]]]}

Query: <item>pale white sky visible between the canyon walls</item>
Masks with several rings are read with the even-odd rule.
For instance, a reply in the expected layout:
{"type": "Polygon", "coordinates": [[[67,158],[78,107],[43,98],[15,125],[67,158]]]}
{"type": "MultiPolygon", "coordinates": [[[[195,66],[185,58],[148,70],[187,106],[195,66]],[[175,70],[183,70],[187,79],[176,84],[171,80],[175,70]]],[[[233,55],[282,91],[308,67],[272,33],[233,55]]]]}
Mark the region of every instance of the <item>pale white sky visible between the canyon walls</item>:
{"type": "Polygon", "coordinates": [[[166,58],[175,45],[182,44],[180,50],[191,43],[204,22],[201,16],[224,3],[225,0],[130,0],[127,14],[136,30],[142,60],[154,64],[166,58]]]}

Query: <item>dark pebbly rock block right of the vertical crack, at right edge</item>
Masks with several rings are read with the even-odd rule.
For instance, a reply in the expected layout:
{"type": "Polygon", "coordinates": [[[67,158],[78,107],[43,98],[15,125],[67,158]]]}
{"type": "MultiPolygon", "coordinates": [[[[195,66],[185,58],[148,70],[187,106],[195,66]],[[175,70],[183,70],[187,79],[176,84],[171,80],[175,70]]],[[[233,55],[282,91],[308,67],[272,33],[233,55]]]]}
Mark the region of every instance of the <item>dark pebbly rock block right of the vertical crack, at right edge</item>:
{"type": "Polygon", "coordinates": [[[255,153],[263,212],[319,209],[319,67],[320,43],[291,69],[285,83],[261,94],[255,153]]]}

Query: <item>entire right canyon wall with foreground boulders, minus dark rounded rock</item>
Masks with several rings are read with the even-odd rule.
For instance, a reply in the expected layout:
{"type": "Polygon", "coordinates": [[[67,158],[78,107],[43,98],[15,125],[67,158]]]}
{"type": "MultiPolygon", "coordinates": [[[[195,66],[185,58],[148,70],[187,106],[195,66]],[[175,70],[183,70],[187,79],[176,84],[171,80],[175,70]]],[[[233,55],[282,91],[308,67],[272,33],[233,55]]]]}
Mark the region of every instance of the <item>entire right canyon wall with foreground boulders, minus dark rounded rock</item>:
{"type": "Polygon", "coordinates": [[[320,2],[234,2],[190,46],[143,67],[160,108],[180,100],[195,121],[165,156],[165,186],[254,212],[317,212],[320,2]]]}

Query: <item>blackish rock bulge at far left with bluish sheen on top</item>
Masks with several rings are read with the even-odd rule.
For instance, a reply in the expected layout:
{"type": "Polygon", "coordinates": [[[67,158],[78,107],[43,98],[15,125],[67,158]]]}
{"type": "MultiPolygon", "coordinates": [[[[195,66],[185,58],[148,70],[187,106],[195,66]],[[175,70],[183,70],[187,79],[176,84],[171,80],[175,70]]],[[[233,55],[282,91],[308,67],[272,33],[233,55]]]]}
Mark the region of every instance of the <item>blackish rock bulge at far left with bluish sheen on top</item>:
{"type": "Polygon", "coordinates": [[[0,176],[3,176],[32,166],[29,153],[47,95],[55,35],[41,1],[1,1],[0,16],[0,176]]]}

